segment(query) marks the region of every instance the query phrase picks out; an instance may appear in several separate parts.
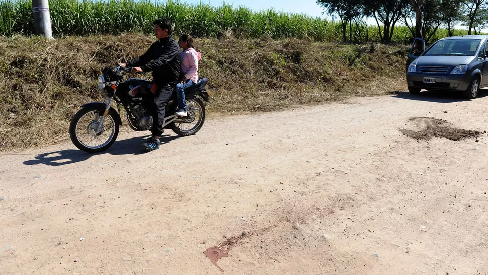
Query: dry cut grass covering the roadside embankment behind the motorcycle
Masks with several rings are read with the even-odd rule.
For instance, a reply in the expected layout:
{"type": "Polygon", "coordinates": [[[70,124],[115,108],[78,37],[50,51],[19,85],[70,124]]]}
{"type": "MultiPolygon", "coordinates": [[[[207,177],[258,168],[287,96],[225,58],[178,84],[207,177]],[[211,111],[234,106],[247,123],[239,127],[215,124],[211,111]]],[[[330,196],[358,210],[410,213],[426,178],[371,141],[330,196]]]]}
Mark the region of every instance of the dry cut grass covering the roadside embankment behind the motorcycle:
{"type": "MultiPolygon", "coordinates": [[[[68,139],[79,106],[100,101],[105,66],[144,52],[144,35],[0,38],[0,150],[68,139]]],[[[272,111],[403,88],[406,48],[287,39],[197,39],[210,112],[272,111]]],[[[147,76],[149,77],[149,76],[147,76]]]]}

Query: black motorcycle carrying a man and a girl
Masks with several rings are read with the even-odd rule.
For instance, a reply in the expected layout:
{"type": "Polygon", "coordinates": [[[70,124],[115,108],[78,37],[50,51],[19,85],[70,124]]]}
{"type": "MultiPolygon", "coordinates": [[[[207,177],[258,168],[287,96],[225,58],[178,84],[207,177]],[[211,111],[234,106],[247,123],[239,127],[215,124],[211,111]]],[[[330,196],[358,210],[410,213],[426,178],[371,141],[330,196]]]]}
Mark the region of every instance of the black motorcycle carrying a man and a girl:
{"type": "MultiPolygon", "coordinates": [[[[109,148],[117,139],[121,106],[126,112],[127,124],[134,131],[146,131],[152,128],[150,106],[154,95],[151,92],[152,82],[144,79],[131,78],[124,81],[124,76],[131,68],[105,68],[98,78],[100,90],[105,91],[102,102],[85,104],[71,119],[69,136],[73,144],[89,153],[101,152],[109,148]],[[117,110],[111,106],[116,102],[117,110]]],[[[188,106],[186,117],[175,116],[178,103],[173,93],[163,122],[165,129],[171,129],[178,135],[188,136],[198,132],[205,121],[205,105],[210,102],[205,90],[208,78],[200,78],[198,82],[185,90],[188,106]]]]}

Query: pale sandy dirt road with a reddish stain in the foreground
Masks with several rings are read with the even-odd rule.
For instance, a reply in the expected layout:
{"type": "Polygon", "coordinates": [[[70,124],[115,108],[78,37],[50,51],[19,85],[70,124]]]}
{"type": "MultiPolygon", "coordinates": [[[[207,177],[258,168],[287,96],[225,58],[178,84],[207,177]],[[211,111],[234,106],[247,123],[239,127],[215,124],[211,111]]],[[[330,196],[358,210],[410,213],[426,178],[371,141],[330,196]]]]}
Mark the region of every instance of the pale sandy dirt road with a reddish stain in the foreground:
{"type": "Polygon", "coordinates": [[[151,153],[127,132],[1,155],[0,274],[486,274],[486,106],[399,93],[213,118],[151,153]],[[423,117],[481,134],[402,133],[423,117]]]}

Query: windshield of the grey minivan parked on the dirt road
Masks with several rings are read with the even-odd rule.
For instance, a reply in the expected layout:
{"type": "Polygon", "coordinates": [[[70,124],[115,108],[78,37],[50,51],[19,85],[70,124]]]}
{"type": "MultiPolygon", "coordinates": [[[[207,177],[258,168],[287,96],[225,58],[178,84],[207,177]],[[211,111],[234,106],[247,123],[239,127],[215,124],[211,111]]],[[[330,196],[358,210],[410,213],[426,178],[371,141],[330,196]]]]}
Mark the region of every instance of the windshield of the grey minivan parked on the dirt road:
{"type": "Polygon", "coordinates": [[[424,55],[429,56],[474,56],[478,49],[479,39],[446,39],[441,40],[428,49],[424,55]]]}

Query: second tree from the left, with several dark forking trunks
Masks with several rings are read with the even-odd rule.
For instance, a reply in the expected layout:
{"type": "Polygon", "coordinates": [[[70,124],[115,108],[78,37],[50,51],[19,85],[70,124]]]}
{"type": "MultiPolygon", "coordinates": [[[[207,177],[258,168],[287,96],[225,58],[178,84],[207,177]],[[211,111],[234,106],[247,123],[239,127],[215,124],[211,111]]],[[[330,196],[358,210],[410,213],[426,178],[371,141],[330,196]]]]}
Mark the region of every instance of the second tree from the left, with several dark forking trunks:
{"type": "Polygon", "coordinates": [[[365,15],[374,17],[383,43],[390,43],[395,25],[401,19],[402,11],[409,0],[363,0],[365,15]],[[380,22],[383,23],[383,32],[380,22]]]}

